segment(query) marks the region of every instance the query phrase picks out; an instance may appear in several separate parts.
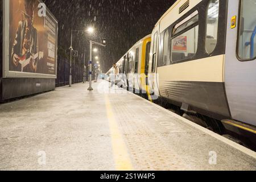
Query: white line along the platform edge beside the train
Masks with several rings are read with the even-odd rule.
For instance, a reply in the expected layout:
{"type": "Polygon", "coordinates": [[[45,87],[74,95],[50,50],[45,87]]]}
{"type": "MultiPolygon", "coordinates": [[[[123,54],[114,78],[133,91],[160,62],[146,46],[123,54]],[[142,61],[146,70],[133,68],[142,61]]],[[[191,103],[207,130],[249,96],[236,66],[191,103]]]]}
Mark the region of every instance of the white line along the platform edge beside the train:
{"type": "MultiPolygon", "coordinates": [[[[136,94],[135,94],[135,96],[138,97],[138,98],[141,98],[140,96],[137,96],[136,94]]],[[[166,111],[166,113],[171,114],[172,116],[176,117],[177,119],[180,119],[181,121],[187,123],[188,125],[190,125],[192,127],[195,127],[196,129],[198,129],[198,130],[200,130],[200,131],[210,135],[211,137],[216,138],[217,140],[220,140],[221,142],[224,142],[225,144],[228,144],[229,146],[231,146],[233,148],[236,148],[236,150],[239,150],[239,151],[243,152],[244,154],[249,155],[252,158],[256,159],[256,152],[250,150],[249,148],[243,147],[240,144],[238,144],[236,142],[233,142],[232,140],[229,140],[229,139],[227,139],[225,137],[222,137],[221,135],[216,134],[213,131],[205,129],[203,126],[197,125],[196,123],[193,123],[192,121],[189,121],[188,119],[185,119],[185,118],[181,117],[180,115],[172,113],[172,111],[164,109],[164,107],[156,105],[156,104],[154,104],[154,103],[152,103],[152,102],[150,102],[148,100],[144,100],[143,98],[141,98],[141,99],[143,101],[146,101],[146,102],[150,103],[151,105],[154,105],[154,106],[158,107],[159,109],[161,109],[163,111],[166,111]]]]}

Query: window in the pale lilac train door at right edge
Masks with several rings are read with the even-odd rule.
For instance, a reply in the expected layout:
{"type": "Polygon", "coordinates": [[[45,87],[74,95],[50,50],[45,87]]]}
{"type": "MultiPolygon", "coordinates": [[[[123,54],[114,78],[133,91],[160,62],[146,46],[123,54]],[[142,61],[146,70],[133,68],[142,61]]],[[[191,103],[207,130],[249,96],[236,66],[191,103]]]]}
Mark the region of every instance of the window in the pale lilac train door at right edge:
{"type": "Polygon", "coordinates": [[[256,0],[241,0],[240,30],[238,32],[238,51],[240,60],[256,58],[256,0]]]}

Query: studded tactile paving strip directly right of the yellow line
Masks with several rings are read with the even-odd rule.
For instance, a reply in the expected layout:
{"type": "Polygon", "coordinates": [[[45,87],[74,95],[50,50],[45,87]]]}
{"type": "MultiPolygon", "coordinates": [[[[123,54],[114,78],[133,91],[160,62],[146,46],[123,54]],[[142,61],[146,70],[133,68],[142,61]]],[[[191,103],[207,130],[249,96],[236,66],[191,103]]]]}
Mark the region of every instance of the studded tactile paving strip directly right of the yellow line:
{"type": "Polygon", "coordinates": [[[116,117],[136,170],[189,169],[170,145],[166,145],[162,140],[164,133],[159,136],[159,133],[148,127],[147,122],[154,118],[138,118],[137,113],[144,112],[138,106],[124,105],[120,101],[113,103],[113,109],[117,113],[116,117]]]}

